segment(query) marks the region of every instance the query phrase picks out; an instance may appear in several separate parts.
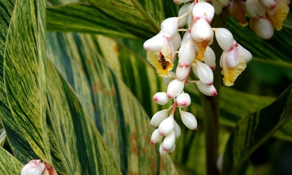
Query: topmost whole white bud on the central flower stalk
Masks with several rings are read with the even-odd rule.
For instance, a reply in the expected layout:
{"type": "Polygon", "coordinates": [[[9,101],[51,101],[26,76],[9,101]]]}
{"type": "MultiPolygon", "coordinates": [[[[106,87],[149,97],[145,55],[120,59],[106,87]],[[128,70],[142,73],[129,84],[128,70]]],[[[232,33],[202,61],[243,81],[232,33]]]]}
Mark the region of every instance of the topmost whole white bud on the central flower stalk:
{"type": "Polygon", "coordinates": [[[207,2],[198,2],[192,10],[195,21],[199,20],[200,18],[206,18],[208,23],[213,20],[214,13],[214,7],[207,2]]]}

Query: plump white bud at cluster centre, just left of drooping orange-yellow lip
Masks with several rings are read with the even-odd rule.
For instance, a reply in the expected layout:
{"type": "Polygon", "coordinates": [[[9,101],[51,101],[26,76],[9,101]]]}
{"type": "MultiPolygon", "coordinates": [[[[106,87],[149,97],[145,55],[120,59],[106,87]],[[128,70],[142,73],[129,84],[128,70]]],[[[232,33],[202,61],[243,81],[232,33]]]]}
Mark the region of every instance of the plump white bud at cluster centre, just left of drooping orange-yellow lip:
{"type": "Polygon", "coordinates": [[[195,58],[195,48],[191,40],[188,40],[186,43],[184,43],[180,49],[178,50],[178,66],[183,67],[184,65],[186,67],[191,66],[192,62],[195,58]]]}

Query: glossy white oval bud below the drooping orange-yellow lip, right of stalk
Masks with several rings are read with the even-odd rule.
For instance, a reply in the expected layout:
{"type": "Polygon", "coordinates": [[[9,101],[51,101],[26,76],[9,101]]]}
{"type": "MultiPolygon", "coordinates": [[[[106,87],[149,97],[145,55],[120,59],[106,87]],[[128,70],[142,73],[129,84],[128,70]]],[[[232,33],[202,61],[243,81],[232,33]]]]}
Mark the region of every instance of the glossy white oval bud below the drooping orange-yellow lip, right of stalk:
{"type": "Polygon", "coordinates": [[[205,63],[202,63],[198,60],[195,60],[196,62],[196,68],[197,68],[197,75],[202,83],[207,85],[213,84],[213,72],[211,68],[206,65],[205,63]]]}

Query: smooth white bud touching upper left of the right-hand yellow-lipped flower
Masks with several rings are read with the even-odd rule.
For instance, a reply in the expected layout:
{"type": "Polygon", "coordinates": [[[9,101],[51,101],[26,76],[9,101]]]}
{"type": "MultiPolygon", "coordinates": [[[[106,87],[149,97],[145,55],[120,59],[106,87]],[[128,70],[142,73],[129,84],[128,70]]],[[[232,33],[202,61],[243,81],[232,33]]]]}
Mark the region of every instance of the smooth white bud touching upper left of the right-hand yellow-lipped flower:
{"type": "Polygon", "coordinates": [[[225,50],[231,50],[233,45],[233,36],[232,33],[225,28],[215,29],[215,37],[219,46],[225,50]]]}

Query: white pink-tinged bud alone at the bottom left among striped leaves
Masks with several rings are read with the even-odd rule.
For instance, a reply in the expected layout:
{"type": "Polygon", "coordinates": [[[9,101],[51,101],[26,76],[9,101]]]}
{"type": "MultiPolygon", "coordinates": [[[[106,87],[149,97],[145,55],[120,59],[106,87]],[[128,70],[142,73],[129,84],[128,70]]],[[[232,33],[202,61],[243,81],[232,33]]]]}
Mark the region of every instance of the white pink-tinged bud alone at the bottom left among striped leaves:
{"type": "Polygon", "coordinates": [[[41,175],[44,169],[45,164],[41,160],[32,160],[22,168],[20,175],[41,175]]]}

